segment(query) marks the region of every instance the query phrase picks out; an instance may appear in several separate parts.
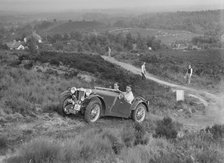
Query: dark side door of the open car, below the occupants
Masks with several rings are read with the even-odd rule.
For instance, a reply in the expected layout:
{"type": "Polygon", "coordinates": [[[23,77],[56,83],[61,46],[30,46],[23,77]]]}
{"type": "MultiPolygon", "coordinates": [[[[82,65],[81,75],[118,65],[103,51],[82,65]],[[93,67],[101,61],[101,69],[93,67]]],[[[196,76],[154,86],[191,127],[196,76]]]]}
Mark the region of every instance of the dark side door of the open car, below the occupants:
{"type": "Polygon", "coordinates": [[[119,99],[117,96],[115,103],[111,108],[111,113],[118,117],[129,117],[131,114],[131,104],[126,102],[124,98],[119,99]]]}

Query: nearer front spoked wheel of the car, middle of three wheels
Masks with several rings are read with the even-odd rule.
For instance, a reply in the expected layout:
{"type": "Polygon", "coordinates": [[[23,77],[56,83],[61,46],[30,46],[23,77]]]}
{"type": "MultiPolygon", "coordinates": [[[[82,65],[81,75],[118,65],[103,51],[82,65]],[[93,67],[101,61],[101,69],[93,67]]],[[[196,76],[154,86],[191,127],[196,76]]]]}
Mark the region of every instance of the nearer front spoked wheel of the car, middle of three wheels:
{"type": "Polygon", "coordinates": [[[84,113],[85,120],[88,123],[96,122],[100,118],[101,110],[102,110],[102,104],[100,99],[98,98],[91,99],[91,101],[89,102],[89,104],[85,109],[84,113]]]}

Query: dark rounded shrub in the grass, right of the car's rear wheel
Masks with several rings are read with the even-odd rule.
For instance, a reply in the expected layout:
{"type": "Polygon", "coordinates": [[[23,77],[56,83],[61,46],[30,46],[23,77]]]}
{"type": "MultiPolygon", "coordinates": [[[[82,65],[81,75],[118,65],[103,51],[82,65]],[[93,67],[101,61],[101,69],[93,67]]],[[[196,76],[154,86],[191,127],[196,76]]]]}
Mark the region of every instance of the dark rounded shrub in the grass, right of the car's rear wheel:
{"type": "Polygon", "coordinates": [[[167,139],[173,139],[177,137],[177,130],[175,123],[170,117],[165,117],[163,120],[157,121],[157,127],[154,137],[165,136],[167,139]]]}

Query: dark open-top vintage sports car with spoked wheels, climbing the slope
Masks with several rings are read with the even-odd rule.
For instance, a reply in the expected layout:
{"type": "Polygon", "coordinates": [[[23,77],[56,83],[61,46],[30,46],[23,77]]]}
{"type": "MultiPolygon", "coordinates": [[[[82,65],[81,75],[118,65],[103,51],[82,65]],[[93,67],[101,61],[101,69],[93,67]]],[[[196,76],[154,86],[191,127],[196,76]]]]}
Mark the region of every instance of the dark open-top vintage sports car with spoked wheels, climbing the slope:
{"type": "Polygon", "coordinates": [[[149,102],[144,98],[135,97],[130,104],[124,100],[120,91],[102,87],[69,88],[61,94],[60,103],[60,114],[81,113],[87,122],[96,122],[103,116],[131,117],[136,122],[142,122],[149,111],[149,102]]]}

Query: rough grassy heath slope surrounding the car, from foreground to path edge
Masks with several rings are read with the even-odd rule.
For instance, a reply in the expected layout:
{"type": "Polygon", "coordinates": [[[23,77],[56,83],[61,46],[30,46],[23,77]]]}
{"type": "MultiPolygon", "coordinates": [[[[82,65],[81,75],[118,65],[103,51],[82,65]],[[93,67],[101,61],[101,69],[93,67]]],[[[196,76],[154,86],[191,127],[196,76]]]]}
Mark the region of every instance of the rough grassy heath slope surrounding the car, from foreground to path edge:
{"type": "Polygon", "coordinates": [[[0,61],[0,154],[11,152],[8,163],[30,160],[41,163],[188,163],[195,160],[216,163],[224,160],[222,126],[191,133],[170,118],[153,118],[162,112],[163,115],[177,114],[177,109],[186,106],[197,111],[200,105],[192,101],[176,104],[168,88],[142,81],[100,56],[42,53],[18,57],[6,51],[0,53],[0,61]],[[30,64],[37,62],[55,66],[62,62],[78,71],[89,72],[98,78],[94,85],[108,86],[118,81],[124,89],[131,83],[135,95],[150,100],[150,118],[141,125],[119,118],[103,118],[95,124],[86,124],[78,116],[63,118],[54,111],[58,107],[58,95],[67,87],[92,87],[92,83],[84,82],[75,74],[65,77],[36,72],[30,64]]]}

